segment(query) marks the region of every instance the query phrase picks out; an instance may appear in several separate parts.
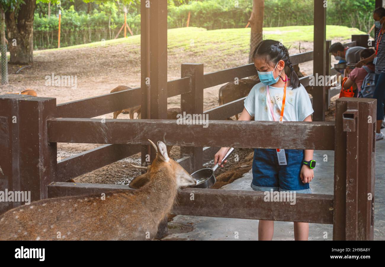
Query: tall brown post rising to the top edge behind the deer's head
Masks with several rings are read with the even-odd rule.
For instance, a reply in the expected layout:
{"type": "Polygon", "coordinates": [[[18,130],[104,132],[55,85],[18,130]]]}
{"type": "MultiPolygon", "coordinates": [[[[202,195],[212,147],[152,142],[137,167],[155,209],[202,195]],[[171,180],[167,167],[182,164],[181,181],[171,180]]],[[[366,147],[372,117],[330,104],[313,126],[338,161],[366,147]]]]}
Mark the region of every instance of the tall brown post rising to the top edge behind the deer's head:
{"type": "MultiPolygon", "coordinates": [[[[141,118],[167,119],[167,1],[141,1],[141,13],[141,118]]],[[[142,165],[147,153],[155,158],[151,146],[142,146],[141,153],[142,165]]],[[[167,217],[156,238],[166,235],[167,217]]]]}

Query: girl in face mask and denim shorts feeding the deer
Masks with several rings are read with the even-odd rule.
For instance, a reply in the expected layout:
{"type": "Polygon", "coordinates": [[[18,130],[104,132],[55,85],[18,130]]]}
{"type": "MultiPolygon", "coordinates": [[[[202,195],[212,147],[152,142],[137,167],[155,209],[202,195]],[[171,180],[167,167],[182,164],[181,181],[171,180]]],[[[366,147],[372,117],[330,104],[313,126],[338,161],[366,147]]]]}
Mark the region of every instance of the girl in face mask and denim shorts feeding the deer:
{"type": "MultiPolygon", "coordinates": [[[[278,41],[264,40],[254,50],[253,60],[261,82],[244,100],[239,120],[249,121],[255,117],[255,121],[311,121],[314,111],[310,97],[294,71],[288,49],[278,41]]],[[[277,133],[277,138],[285,136],[277,133]]],[[[221,148],[215,154],[215,163],[222,161],[228,149],[221,148]]],[[[254,149],[253,190],[311,193],[313,150],[282,150],[254,149]]],[[[259,220],[259,240],[272,240],[273,233],[274,221],[259,220]]],[[[308,235],[308,223],[294,222],[295,240],[307,240],[308,235]]]]}

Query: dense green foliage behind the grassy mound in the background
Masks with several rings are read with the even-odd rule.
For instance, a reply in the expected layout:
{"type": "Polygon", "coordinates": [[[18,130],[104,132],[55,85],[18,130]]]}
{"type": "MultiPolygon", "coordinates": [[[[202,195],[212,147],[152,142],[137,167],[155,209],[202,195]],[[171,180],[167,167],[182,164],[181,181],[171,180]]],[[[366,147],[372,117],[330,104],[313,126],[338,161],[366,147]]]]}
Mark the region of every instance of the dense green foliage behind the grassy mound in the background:
{"type": "MultiPolygon", "coordinates": [[[[21,0],[0,0],[20,3],[21,0]]],[[[208,30],[244,28],[251,14],[253,0],[167,0],[168,28],[190,27],[208,30]]],[[[35,12],[35,48],[57,46],[57,0],[37,0],[35,12]],[[47,18],[51,1],[51,17],[47,18]]],[[[343,25],[368,32],[373,25],[375,0],[328,0],[327,24],[343,25]]],[[[114,39],[124,23],[140,34],[140,0],[61,0],[61,46],[114,39]]],[[[313,25],[314,0],[265,0],[264,27],[313,25]]],[[[129,33],[128,33],[129,34],[129,33]]],[[[123,30],[119,37],[123,36],[123,30]]]]}

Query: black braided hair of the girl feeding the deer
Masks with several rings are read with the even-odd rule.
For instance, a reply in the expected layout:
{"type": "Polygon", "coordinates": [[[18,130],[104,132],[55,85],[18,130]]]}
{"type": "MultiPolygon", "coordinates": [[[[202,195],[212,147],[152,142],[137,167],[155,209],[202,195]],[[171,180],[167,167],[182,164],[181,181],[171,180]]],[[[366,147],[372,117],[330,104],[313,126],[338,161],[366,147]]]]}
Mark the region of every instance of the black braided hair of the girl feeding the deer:
{"type": "Polygon", "coordinates": [[[264,58],[266,65],[276,65],[278,61],[283,60],[286,68],[285,73],[289,72],[286,70],[290,70],[290,86],[293,88],[300,86],[300,79],[290,61],[289,50],[281,42],[276,40],[263,40],[253,52],[253,60],[255,61],[257,58],[264,58]]]}

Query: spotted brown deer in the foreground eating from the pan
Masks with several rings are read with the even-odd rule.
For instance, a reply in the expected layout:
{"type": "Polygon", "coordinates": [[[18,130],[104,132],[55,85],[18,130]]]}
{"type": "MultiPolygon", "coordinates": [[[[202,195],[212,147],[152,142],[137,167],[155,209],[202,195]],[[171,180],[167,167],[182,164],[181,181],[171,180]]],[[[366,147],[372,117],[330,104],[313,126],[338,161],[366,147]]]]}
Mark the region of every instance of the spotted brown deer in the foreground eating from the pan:
{"type": "Polygon", "coordinates": [[[105,200],[65,196],[13,208],[0,215],[0,240],[153,239],[179,188],[196,180],[169,158],[162,141],[157,147],[150,143],[157,154],[147,173],[135,178],[134,183],[148,180],[140,189],[106,193],[105,200]]]}

